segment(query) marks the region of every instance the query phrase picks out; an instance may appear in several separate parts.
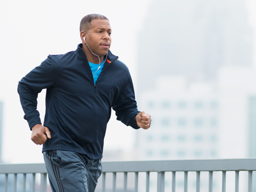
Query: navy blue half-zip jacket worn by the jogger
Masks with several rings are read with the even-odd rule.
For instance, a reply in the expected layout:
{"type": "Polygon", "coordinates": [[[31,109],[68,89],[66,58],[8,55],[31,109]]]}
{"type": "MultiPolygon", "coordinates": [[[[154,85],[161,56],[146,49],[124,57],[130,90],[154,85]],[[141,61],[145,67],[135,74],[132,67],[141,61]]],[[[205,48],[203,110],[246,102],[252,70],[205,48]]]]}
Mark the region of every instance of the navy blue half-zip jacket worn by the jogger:
{"type": "Polygon", "coordinates": [[[46,88],[44,126],[51,139],[43,151],[66,150],[102,158],[111,107],[117,120],[138,129],[139,113],[128,68],[108,51],[108,58],[94,85],[88,60],[79,44],[75,51],[49,55],[19,81],[18,93],[29,127],[41,124],[37,95],[46,88]]]}

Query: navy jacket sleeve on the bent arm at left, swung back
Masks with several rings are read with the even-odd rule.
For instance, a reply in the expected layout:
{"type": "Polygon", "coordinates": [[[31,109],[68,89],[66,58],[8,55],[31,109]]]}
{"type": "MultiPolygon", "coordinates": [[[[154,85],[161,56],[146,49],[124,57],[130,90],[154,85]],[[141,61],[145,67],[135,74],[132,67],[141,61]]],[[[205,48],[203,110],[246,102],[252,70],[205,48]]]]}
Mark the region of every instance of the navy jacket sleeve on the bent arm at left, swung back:
{"type": "Polygon", "coordinates": [[[48,56],[41,65],[30,71],[18,84],[20,103],[25,112],[24,119],[28,121],[31,129],[36,124],[41,124],[37,109],[38,93],[44,88],[53,86],[52,60],[48,56]]]}

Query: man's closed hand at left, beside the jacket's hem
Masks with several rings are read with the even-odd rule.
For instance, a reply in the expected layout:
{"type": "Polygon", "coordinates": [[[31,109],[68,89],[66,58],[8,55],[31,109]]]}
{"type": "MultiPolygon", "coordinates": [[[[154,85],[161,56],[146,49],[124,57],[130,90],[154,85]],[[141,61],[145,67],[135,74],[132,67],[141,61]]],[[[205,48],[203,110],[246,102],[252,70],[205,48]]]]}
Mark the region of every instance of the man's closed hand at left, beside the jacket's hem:
{"type": "Polygon", "coordinates": [[[37,145],[44,144],[47,137],[51,139],[51,133],[47,127],[42,126],[42,124],[36,124],[32,128],[31,140],[37,145]]]}

